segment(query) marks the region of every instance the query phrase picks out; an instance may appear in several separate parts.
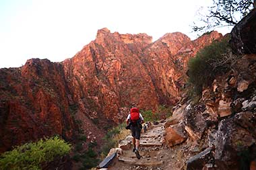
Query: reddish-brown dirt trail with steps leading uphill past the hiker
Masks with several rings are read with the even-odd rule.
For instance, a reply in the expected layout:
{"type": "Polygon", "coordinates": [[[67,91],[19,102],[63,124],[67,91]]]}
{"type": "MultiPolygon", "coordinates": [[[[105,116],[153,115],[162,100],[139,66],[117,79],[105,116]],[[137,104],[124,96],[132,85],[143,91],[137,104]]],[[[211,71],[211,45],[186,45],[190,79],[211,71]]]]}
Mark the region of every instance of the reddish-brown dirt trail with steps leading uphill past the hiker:
{"type": "MultiPolygon", "coordinates": [[[[185,162],[194,155],[191,153],[191,142],[187,140],[183,144],[167,148],[164,142],[164,122],[152,125],[148,132],[141,135],[139,154],[141,159],[135,157],[132,147],[123,149],[123,154],[119,155],[109,170],[127,169],[156,169],[156,170],[177,170],[185,169],[185,162]]],[[[193,151],[193,149],[192,149],[193,151]]]]}

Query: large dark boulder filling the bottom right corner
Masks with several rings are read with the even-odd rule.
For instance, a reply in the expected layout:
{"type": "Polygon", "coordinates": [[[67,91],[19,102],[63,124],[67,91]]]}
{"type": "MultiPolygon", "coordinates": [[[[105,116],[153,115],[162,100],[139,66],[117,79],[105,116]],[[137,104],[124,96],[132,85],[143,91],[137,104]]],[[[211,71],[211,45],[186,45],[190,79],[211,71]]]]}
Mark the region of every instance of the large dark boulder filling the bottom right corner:
{"type": "Polygon", "coordinates": [[[255,149],[255,114],[241,112],[222,120],[216,137],[215,160],[221,169],[249,167],[255,149]]]}

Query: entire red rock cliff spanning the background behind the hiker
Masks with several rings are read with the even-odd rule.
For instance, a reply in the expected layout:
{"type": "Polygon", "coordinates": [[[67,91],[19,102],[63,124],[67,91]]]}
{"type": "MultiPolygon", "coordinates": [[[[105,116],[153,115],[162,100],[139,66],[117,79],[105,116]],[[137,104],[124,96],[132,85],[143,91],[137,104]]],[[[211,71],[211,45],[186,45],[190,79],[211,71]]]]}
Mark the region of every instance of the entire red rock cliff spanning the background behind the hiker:
{"type": "Polygon", "coordinates": [[[181,99],[189,58],[221,37],[212,32],[191,41],[176,32],[152,42],[104,28],[63,62],[31,59],[0,69],[0,152],[54,134],[71,140],[76,130],[100,144],[131,105],[155,110],[181,99]]]}

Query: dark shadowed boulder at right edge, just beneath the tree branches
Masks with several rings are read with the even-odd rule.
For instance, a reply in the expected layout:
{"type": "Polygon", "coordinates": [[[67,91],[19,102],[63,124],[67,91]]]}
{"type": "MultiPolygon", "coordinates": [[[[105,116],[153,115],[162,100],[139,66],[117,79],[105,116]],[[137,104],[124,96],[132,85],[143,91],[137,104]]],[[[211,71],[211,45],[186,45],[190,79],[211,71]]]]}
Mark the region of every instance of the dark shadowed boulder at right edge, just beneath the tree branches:
{"type": "Polygon", "coordinates": [[[244,17],[231,32],[230,46],[236,54],[256,53],[256,10],[244,17]]]}

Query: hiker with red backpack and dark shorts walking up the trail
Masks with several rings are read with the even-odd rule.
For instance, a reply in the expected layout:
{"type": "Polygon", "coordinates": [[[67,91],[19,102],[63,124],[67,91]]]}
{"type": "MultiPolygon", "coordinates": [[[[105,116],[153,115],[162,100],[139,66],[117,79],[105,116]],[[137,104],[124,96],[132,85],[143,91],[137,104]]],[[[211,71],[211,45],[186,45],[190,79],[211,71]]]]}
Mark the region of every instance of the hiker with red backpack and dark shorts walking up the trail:
{"type": "Polygon", "coordinates": [[[128,129],[131,129],[131,136],[133,136],[133,152],[135,153],[137,159],[140,159],[139,155],[139,138],[141,133],[141,128],[144,122],[143,117],[139,113],[137,108],[131,108],[130,114],[127,116],[126,123],[128,129]]]}

